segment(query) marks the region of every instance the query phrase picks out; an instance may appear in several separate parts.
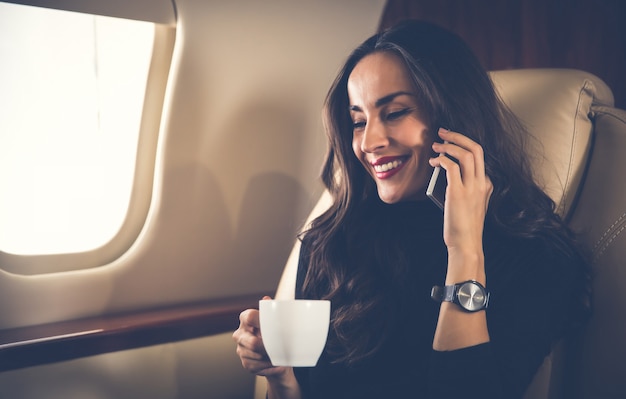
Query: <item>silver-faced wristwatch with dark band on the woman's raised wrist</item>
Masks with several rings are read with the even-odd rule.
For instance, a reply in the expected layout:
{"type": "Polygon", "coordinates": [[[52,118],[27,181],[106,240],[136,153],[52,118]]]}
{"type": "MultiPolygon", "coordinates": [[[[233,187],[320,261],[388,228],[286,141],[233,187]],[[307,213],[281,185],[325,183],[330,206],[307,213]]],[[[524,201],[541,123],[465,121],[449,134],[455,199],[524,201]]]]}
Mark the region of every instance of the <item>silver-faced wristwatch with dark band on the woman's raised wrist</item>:
{"type": "Polygon", "coordinates": [[[430,297],[437,302],[453,302],[466,312],[478,312],[487,309],[489,292],[478,281],[467,280],[444,287],[435,285],[430,297]]]}

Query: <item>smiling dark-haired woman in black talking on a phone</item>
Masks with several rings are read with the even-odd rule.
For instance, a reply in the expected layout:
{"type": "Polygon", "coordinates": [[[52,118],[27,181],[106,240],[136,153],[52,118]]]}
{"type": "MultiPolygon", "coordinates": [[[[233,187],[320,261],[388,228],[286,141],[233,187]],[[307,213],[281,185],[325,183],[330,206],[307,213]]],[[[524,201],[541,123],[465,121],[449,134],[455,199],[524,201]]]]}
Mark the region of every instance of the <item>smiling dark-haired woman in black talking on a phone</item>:
{"type": "Polygon", "coordinates": [[[332,301],[326,348],[314,368],[272,367],[248,310],[243,366],[270,398],[522,397],[586,316],[587,263],[471,50],[424,22],[377,34],[325,122],[334,202],[302,234],[296,297],[332,301]],[[443,212],[425,195],[433,167],[443,212]]]}

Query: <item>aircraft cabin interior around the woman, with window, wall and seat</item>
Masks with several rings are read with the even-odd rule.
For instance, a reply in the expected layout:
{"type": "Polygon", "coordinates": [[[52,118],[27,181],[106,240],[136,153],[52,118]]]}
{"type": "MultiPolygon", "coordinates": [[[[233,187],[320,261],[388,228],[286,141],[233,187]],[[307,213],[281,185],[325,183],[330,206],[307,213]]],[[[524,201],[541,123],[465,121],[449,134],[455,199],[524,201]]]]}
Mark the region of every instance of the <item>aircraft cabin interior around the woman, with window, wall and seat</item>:
{"type": "Polygon", "coordinates": [[[0,1],[0,398],[265,398],[239,315],[294,297],[327,92],[407,18],[472,47],[591,252],[592,316],[524,398],[626,398],[619,0],[0,1]]]}

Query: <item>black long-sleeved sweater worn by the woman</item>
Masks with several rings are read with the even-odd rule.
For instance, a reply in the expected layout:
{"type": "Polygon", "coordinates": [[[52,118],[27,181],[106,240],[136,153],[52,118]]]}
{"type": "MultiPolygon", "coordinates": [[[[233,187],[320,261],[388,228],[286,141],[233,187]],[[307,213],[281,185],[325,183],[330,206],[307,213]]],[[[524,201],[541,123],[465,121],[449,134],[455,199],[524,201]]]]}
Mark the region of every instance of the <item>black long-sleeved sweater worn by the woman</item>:
{"type": "MultiPolygon", "coordinates": [[[[334,339],[331,325],[317,366],[295,369],[304,398],[522,397],[551,344],[576,316],[573,304],[580,302],[585,286],[583,261],[561,255],[545,241],[511,238],[486,227],[490,342],[439,352],[432,349],[432,341],[440,304],[430,298],[430,291],[445,280],[443,214],[428,200],[380,203],[373,212],[376,215],[363,214],[362,221],[351,226],[358,232],[343,239],[342,261],[351,268],[368,265],[371,281],[387,301],[388,311],[366,323],[375,331],[360,334],[378,337],[383,327],[386,333],[380,335],[374,354],[348,364],[336,362],[336,350],[328,350],[334,339]],[[387,248],[376,245],[381,241],[387,248]]],[[[311,251],[305,235],[296,298],[307,297],[303,282],[311,251]]]]}

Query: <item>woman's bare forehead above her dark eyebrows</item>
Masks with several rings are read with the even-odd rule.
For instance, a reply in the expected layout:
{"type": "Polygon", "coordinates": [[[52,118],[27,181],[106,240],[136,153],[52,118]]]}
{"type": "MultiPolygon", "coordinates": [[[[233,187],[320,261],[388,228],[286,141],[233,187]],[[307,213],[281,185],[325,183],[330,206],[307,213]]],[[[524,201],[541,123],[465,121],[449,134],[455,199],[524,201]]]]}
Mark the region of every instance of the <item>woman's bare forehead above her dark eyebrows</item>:
{"type": "Polygon", "coordinates": [[[403,61],[395,54],[378,52],[359,61],[348,78],[350,103],[373,103],[396,91],[412,92],[403,61]]]}

